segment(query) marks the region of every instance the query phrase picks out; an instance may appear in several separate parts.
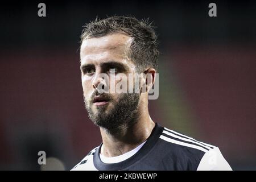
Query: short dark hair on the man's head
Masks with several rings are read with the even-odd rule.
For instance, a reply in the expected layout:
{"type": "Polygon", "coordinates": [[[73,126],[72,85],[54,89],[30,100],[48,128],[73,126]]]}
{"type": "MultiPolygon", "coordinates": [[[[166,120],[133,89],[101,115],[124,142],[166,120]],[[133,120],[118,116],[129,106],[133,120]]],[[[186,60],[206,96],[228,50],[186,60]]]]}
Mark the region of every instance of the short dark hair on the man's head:
{"type": "Polygon", "coordinates": [[[147,67],[158,68],[157,36],[148,19],[138,20],[132,16],[111,16],[105,19],[96,18],[84,27],[80,43],[85,39],[122,32],[134,38],[130,46],[130,57],[137,65],[137,71],[143,72],[147,67]]]}

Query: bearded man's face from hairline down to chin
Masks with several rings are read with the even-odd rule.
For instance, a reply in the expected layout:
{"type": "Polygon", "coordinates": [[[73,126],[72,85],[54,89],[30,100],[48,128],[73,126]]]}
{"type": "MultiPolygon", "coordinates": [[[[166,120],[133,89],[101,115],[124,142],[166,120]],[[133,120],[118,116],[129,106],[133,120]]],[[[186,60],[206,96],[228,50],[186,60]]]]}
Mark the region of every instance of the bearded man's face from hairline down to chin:
{"type": "Polygon", "coordinates": [[[98,88],[103,88],[102,85],[105,89],[106,87],[110,89],[110,82],[115,86],[123,81],[122,78],[110,77],[113,74],[123,73],[127,76],[127,85],[129,84],[128,75],[136,72],[135,64],[129,56],[132,41],[133,38],[116,33],[86,39],[81,44],[84,102],[90,119],[97,126],[115,129],[129,124],[134,117],[137,117],[139,93],[98,92],[98,88]],[[108,78],[102,78],[102,73],[108,78]]]}

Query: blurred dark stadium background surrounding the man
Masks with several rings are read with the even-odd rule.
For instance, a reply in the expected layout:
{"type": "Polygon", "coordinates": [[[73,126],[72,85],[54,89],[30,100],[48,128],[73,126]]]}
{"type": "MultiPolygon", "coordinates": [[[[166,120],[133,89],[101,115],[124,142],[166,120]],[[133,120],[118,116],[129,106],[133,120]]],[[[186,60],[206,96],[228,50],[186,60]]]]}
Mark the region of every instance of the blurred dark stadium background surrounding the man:
{"type": "Polygon", "coordinates": [[[152,119],[220,147],[235,170],[255,170],[255,1],[1,2],[0,169],[69,170],[100,144],[82,100],[79,36],[85,23],[111,15],[156,26],[152,119]],[[208,16],[211,2],[217,17],[208,16]]]}

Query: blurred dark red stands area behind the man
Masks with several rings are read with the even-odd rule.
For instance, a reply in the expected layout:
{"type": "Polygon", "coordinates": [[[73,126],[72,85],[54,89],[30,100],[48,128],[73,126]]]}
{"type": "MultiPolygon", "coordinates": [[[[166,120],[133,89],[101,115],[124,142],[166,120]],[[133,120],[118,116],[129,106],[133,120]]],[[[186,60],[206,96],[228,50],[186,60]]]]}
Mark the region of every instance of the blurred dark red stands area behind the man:
{"type": "MultiPolygon", "coordinates": [[[[255,161],[255,49],[170,45],[160,60],[176,76],[203,140],[219,146],[231,165],[255,161]]],[[[37,169],[37,160],[27,164],[32,161],[28,154],[40,146],[58,155],[69,169],[100,144],[99,129],[84,109],[79,53],[72,47],[20,49],[1,57],[2,169],[37,169]]],[[[165,114],[161,101],[152,103],[155,122],[171,125],[158,118],[165,114]]]]}

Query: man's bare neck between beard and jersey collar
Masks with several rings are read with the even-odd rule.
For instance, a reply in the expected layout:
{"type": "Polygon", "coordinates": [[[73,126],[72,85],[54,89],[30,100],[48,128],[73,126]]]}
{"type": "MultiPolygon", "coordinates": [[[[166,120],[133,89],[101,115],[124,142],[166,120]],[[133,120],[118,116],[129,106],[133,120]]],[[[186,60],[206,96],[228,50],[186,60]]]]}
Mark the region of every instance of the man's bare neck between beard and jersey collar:
{"type": "Polygon", "coordinates": [[[101,154],[106,157],[113,157],[125,154],[143,143],[154,129],[155,123],[148,114],[147,107],[140,108],[137,121],[130,126],[121,127],[118,132],[111,132],[100,128],[104,148],[101,154]],[[144,109],[144,110],[143,110],[144,109]]]}

